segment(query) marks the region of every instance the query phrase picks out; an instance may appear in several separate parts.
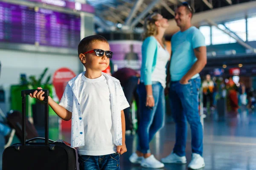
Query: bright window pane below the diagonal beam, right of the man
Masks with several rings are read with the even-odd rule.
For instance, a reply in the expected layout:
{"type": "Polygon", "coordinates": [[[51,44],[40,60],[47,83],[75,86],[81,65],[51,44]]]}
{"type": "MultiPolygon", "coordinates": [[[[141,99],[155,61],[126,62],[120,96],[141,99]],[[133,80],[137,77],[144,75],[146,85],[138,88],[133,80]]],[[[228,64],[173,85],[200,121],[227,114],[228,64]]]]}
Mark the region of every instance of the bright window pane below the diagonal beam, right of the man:
{"type": "MultiPolygon", "coordinates": [[[[222,24],[219,24],[218,27],[222,30],[226,29],[222,24]]],[[[226,34],[224,31],[221,31],[219,28],[212,26],[212,45],[236,42],[234,38],[230,37],[230,35],[226,34]]]]}

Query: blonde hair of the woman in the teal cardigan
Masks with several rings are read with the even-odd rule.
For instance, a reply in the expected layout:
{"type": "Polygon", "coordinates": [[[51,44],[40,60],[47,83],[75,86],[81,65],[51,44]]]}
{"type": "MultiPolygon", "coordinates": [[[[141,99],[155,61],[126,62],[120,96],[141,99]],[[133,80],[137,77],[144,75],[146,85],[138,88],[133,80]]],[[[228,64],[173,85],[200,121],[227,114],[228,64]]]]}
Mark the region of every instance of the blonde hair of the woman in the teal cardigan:
{"type": "MultiPolygon", "coordinates": [[[[142,39],[145,40],[147,37],[155,36],[158,34],[157,26],[155,22],[158,19],[157,12],[154,12],[153,14],[150,14],[148,17],[145,18],[144,21],[144,31],[142,34],[142,39]]],[[[165,39],[163,37],[163,44],[165,45],[165,39]]]]}

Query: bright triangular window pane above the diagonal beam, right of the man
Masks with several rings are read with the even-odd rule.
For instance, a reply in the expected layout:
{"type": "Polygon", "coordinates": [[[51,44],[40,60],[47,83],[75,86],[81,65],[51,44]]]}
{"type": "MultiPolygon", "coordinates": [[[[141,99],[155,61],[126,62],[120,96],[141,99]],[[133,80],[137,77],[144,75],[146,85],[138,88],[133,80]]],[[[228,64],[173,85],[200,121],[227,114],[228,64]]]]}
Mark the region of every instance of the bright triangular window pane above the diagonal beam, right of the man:
{"type": "Polygon", "coordinates": [[[225,26],[240,37],[243,41],[246,41],[246,20],[236,20],[225,23],[225,26]]]}

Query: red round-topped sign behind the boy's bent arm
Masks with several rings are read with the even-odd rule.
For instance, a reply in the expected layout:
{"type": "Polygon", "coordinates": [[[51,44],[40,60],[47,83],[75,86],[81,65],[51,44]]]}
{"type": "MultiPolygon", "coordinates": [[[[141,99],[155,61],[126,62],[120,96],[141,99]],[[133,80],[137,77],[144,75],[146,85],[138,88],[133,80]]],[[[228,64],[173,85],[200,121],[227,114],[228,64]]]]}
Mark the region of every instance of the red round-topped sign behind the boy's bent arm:
{"type": "MultiPolygon", "coordinates": [[[[76,74],[71,71],[69,68],[60,68],[55,71],[53,74],[52,84],[55,87],[56,95],[58,96],[59,101],[64,93],[67,82],[76,77],[76,74]]],[[[71,120],[70,121],[61,121],[61,130],[71,130],[71,120]]]]}

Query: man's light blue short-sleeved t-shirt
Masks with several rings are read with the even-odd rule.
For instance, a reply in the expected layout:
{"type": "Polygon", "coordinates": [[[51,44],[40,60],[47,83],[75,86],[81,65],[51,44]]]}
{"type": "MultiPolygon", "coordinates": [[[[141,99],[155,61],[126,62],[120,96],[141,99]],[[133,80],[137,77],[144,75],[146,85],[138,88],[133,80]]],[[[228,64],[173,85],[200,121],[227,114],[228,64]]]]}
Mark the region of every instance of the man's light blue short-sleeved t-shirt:
{"type": "MultiPolygon", "coordinates": [[[[172,36],[172,57],[170,65],[171,81],[179,81],[197,61],[194,48],[205,45],[204,35],[192,26],[186,31],[179,31],[172,36]]],[[[192,79],[198,77],[196,74],[192,79]]]]}

